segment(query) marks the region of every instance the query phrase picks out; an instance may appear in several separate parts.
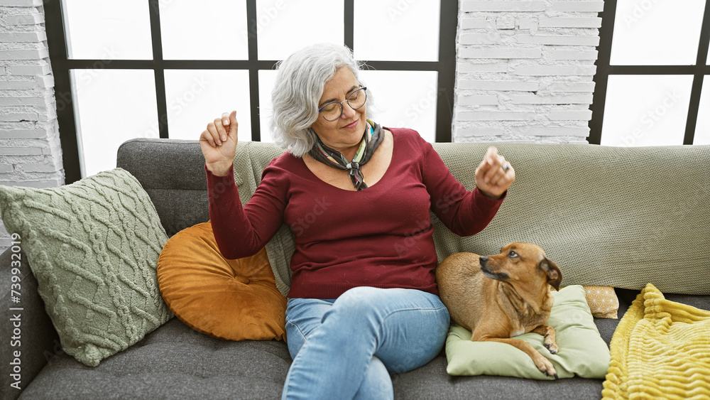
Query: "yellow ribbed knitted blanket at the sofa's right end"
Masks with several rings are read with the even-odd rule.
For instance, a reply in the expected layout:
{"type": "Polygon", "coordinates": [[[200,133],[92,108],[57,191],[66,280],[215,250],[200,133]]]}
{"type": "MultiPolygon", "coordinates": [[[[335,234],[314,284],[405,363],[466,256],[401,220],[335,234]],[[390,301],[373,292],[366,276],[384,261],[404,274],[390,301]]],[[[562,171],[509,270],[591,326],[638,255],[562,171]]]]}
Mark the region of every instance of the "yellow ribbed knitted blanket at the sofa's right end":
{"type": "Polygon", "coordinates": [[[603,387],[603,399],[709,399],[710,311],[648,283],[611,338],[603,387]]]}

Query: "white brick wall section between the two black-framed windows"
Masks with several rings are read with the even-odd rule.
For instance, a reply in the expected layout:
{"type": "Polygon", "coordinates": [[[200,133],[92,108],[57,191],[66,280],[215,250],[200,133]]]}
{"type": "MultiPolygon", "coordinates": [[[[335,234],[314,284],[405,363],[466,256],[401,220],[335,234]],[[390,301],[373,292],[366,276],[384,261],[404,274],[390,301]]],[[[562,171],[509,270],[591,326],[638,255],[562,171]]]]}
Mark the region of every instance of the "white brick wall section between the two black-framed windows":
{"type": "Polygon", "coordinates": [[[586,143],[603,1],[459,0],[454,141],[586,143]]]}

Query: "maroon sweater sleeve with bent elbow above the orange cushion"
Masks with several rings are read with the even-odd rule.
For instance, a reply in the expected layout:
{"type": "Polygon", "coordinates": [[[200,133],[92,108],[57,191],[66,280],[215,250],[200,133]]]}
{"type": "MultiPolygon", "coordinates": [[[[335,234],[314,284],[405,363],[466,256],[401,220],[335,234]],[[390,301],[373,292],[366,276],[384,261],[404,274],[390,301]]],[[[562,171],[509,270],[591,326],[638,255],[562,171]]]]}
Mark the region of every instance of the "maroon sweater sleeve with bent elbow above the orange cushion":
{"type": "Polygon", "coordinates": [[[226,259],[252,256],[271,240],[283,224],[283,190],[279,190],[273,174],[262,175],[251,200],[242,207],[234,182],[234,166],[224,176],[207,174],[209,221],[217,247],[226,259]]]}

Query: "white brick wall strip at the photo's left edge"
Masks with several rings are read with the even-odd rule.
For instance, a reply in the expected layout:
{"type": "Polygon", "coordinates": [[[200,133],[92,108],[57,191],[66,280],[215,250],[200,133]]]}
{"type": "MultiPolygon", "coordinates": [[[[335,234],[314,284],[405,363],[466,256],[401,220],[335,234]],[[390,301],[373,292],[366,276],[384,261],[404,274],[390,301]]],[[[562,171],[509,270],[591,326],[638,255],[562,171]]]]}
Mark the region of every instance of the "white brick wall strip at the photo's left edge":
{"type": "MultiPolygon", "coordinates": [[[[41,0],[0,0],[0,185],[64,183],[41,0]]],[[[9,247],[0,223],[0,252],[9,247]]]]}

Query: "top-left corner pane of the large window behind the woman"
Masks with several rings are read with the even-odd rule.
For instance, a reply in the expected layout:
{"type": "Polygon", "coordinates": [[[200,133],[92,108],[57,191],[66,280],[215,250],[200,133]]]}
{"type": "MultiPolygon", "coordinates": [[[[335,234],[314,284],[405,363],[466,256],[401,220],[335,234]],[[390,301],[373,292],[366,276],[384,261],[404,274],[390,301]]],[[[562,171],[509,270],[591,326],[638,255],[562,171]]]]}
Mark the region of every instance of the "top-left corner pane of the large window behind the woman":
{"type": "Polygon", "coordinates": [[[64,0],[69,58],[152,60],[145,0],[64,0]]]}

